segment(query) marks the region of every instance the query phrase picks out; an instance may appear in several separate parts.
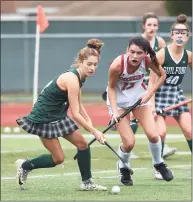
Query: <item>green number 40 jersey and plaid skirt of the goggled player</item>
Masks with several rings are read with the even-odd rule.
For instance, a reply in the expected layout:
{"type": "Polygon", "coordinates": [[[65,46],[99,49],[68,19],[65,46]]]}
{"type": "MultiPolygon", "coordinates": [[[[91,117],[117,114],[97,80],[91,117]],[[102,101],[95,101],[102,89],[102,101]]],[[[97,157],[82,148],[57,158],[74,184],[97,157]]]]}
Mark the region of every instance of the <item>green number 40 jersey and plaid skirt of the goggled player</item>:
{"type": "MultiPolygon", "coordinates": [[[[188,54],[184,49],[182,58],[175,61],[172,58],[168,46],[164,48],[165,60],[162,65],[166,72],[166,80],[155,93],[156,110],[161,110],[173,104],[178,104],[185,100],[183,90],[180,86],[182,83],[186,68],[188,66],[188,54]]],[[[166,116],[179,116],[183,112],[189,112],[188,106],[183,105],[165,113],[166,116]]]]}

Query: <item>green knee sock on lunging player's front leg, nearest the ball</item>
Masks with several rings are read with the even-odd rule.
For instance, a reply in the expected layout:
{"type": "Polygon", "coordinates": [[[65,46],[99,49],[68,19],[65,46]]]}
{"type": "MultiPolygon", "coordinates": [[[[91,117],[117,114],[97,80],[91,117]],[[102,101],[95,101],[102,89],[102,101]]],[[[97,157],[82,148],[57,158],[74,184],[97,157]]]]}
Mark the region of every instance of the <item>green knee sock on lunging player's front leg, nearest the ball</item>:
{"type": "Polygon", "coordinates": [[[85,150],[78,150],[77,161],[82,181],[90,179],[92,177],[90,147],[85,150]]]}

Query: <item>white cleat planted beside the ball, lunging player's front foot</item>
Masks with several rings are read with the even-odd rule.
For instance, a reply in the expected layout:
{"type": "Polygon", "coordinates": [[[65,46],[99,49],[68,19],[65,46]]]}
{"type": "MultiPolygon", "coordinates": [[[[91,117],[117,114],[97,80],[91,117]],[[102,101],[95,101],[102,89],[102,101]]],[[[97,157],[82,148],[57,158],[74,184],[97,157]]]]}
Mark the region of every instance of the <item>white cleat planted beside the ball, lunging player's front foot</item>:
{"type": "Polygon", "coordinates": [[[107,187],[95,184],[92,179],[87,182],[82,182],[80,185],[81,191],[107,191],[107,187]]]}

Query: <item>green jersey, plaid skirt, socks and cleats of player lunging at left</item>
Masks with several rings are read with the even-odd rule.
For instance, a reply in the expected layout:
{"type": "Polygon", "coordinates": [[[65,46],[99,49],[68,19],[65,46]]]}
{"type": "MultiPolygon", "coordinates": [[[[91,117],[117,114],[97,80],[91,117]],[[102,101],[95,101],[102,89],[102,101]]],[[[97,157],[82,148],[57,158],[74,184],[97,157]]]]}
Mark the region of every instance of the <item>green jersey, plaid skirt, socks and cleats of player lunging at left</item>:
{"type": "MultiPolygon", "coordinates": [[[[72,72],[78,77],[81,88],[85,80],[81,80],[77,69],[69,69],[66,72],[72,72]]],[[[58,77],[45,86],[30,114],[16,120],[26,132],[52,139],[65,137],[78,129],[76,123],[67,115],[69,108],[68,92],[57,86],[57,79],[58,77]]],[[[107,190],[106,187],[95,184],[92,180],[89,147],[85,150],[78,150],[77,160],[82,177],[80,190],[107,190]]],[[[31,170],[57,165],[51,154],[44,154],[31,160],[18,159],[15,163],[18,184],[22,189],[25,187],[27,175],[31,170]]]]}

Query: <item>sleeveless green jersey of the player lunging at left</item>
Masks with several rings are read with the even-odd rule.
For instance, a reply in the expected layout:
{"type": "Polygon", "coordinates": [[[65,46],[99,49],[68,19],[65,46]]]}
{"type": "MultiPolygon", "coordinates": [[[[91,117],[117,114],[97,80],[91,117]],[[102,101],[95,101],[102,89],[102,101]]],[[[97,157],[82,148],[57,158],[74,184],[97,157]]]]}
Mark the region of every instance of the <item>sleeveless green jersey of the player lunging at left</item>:
{"type": "MultiPolygon", "coordinates": [[[[80,88],[85,80],[80,79],[80,75],[75,68],[66,72],[73,72],[79,79],[80,88]]],[[[69,108],[68,92],[62,91],[56,84],[59,76],[50,81],[40,93],[37,102],[27,118],[33,123],[49,123],[66,116],[69,108]]]]}

